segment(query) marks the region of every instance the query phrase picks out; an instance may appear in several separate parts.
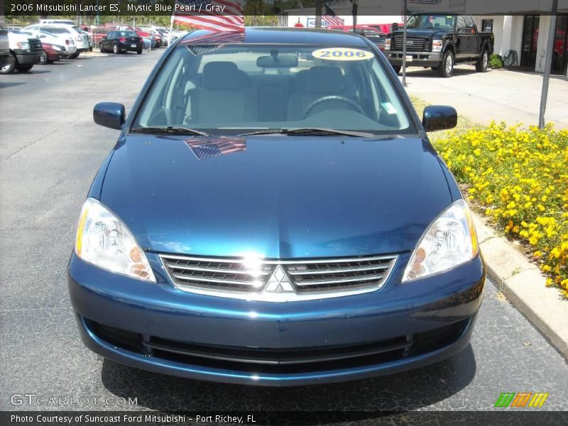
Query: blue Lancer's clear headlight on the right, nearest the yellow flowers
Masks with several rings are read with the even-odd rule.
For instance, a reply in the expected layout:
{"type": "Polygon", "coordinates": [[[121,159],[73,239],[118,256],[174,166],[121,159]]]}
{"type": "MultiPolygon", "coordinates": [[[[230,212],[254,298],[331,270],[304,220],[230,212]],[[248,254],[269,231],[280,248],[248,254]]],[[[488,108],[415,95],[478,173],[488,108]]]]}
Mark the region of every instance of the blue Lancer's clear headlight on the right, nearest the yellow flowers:
{"type": "Polygon", "coordinates": [[[457,200],[422,235],[404,271],[403,283],[449,271],[478,253],[471,212],[464,200],[457,200]]]}

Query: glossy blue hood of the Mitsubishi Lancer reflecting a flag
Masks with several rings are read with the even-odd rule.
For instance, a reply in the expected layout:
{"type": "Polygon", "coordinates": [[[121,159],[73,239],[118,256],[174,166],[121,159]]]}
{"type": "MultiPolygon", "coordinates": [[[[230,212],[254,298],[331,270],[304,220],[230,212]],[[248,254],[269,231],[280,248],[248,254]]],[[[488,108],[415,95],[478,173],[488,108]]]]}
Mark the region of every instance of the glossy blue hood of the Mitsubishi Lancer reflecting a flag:
{"type": "Polygon", "coordinates": [[[410,251],[451,202],[420,138],[127,136],[101,201],[143,249],[298,258],[410,251]]]}

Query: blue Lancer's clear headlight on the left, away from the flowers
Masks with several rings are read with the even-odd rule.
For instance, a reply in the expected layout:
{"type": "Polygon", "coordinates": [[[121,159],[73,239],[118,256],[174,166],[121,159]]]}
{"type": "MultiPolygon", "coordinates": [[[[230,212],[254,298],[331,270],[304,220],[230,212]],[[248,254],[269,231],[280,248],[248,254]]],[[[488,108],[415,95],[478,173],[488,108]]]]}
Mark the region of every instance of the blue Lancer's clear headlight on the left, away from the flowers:
{"type": "Polygon", "coordinates": [[[146,255],[129,229],[94,198],[87,198],[83,204],[75,253],[107,271],[156,282],[146,255]]]}

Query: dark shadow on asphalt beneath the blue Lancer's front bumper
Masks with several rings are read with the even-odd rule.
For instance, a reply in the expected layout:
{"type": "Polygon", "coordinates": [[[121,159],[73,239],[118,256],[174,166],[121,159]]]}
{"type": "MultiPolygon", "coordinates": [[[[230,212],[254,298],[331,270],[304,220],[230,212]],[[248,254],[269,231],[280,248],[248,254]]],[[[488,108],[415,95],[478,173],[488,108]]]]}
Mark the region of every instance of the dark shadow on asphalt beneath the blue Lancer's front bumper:
{"type": "Polygon", "coordinates": [[[379,411],[417,410],[445,400],[468,386],[475,372],[474,352],[468,345],[445,361],[403,373],[294,388],[195,381],[122,366],[107,359],[101,374],[109,392],[126,400],[137,398],[139,407],[151,410],[352,411],[359,412],[359,417],[361,411],[367,411],[368,417],[377,417],[379,411]]]}

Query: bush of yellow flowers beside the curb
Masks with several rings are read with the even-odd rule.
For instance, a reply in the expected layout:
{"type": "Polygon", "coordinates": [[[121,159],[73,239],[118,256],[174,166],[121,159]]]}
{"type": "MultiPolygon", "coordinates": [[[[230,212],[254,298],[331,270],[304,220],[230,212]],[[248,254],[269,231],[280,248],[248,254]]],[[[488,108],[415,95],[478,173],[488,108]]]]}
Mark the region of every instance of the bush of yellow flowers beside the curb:
{"type": "Polygon", "coordinates": [[[492,123],[433,144],[469,199],[568,297],[568,130],[492,123]]]}

